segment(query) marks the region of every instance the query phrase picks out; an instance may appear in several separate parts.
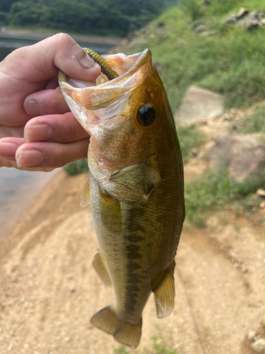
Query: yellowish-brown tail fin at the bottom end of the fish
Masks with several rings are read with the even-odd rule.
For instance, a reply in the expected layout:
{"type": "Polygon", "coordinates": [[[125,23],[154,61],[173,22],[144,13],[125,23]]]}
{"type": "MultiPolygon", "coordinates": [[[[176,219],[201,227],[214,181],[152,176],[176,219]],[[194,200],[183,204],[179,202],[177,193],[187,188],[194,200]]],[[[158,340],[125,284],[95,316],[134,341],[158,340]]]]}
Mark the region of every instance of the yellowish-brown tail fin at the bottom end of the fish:
{"type": "Polygon", "coordinates": [[[136,348],[141,338],[142,319],[139,324],[126,324],[115,316],[112,305],[104,307],[90,319],[90,324],[112,334],[119,343],[136,348]]]}

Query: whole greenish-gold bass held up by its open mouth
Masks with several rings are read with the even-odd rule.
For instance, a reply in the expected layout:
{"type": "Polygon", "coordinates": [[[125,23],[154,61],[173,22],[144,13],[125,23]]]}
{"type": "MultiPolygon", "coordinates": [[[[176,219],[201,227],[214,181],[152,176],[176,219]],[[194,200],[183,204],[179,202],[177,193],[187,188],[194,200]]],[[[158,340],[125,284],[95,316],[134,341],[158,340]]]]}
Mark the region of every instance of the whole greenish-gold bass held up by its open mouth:
{"type": "Polygon", "coordinates": [[[59,72],[69,108],[90,135],[90,200],[100,249],[93,267],[115,300],[90,319],[136,348],[143,308],[154,293],[158,318],[174,307],[175,256],[184,222],[182,153],[151,51],[102,56],[117,72],[86,83],[59,72]]]}

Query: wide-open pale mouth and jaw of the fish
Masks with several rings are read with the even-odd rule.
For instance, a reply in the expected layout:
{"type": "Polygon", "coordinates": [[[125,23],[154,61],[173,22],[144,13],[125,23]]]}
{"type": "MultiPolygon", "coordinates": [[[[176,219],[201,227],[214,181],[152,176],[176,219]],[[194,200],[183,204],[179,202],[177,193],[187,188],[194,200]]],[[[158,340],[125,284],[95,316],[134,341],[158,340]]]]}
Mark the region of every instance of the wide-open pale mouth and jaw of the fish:
{"type": "Polygon", "coordinates": [[[126,118],[128,99],[152,67],[151,51],[134,55],[102,55],[119,76],[107,81],[100,74],[93,82],[71,79],[59,71],[61,92],[82,127],[91,135],[95,126],[107,130],[121,127],[126,118]]]}

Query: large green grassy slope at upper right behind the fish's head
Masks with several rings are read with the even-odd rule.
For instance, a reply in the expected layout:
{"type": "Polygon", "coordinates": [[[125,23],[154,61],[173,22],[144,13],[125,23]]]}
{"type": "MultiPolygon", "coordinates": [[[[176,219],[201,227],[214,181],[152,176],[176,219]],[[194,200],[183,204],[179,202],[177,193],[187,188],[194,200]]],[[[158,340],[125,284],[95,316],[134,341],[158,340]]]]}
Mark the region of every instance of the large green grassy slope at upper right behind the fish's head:
{"type": "MultiPolygon", "coordinates": [[[[184,1],[185,2],[185,1],[184,1]]],[[[246,30],[223,23],[230,13],[240,6],[249,10],[264,8],[265,0],[211,1],[211,6],[201,6],[202,1],[189,0],[203,13],[199,21],[206,21],[206,30],[216,30],[206,37],[193,30],[191,9],[173,7],[157,18],[149,28],[153,35],[139,33],[139,44],[119,50],[131,54],[148,47],[153,62],[163,67],[161,79],[173,112],[179,107],[187,88],[198,85],[225,95],[226,108],[247,107],[265,98],[265,26],[246,30]],[[213,17],[215,16],[215,17],[213,17]],[[163,30],[155,24],[163,22],[163,30]],[[153,26],[153,27],[152,27],[153,26]],[[147,39],[146,39],[147,38],[147,39]]],[[[194,15],[196,17],[196,15],[194,15]]]]}

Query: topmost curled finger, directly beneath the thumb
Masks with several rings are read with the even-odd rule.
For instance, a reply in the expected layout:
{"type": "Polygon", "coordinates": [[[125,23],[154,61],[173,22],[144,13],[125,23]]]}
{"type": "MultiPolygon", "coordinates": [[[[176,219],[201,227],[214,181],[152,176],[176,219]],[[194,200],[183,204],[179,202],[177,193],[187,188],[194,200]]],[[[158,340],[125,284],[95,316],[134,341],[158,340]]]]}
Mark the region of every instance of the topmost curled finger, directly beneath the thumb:
{"type": "Polygon", "coordinates": [[[44,90],[32,93],[25,98],[24,109],[29,115],[63,114],[69,112],[61,89],[44,90]]]}

